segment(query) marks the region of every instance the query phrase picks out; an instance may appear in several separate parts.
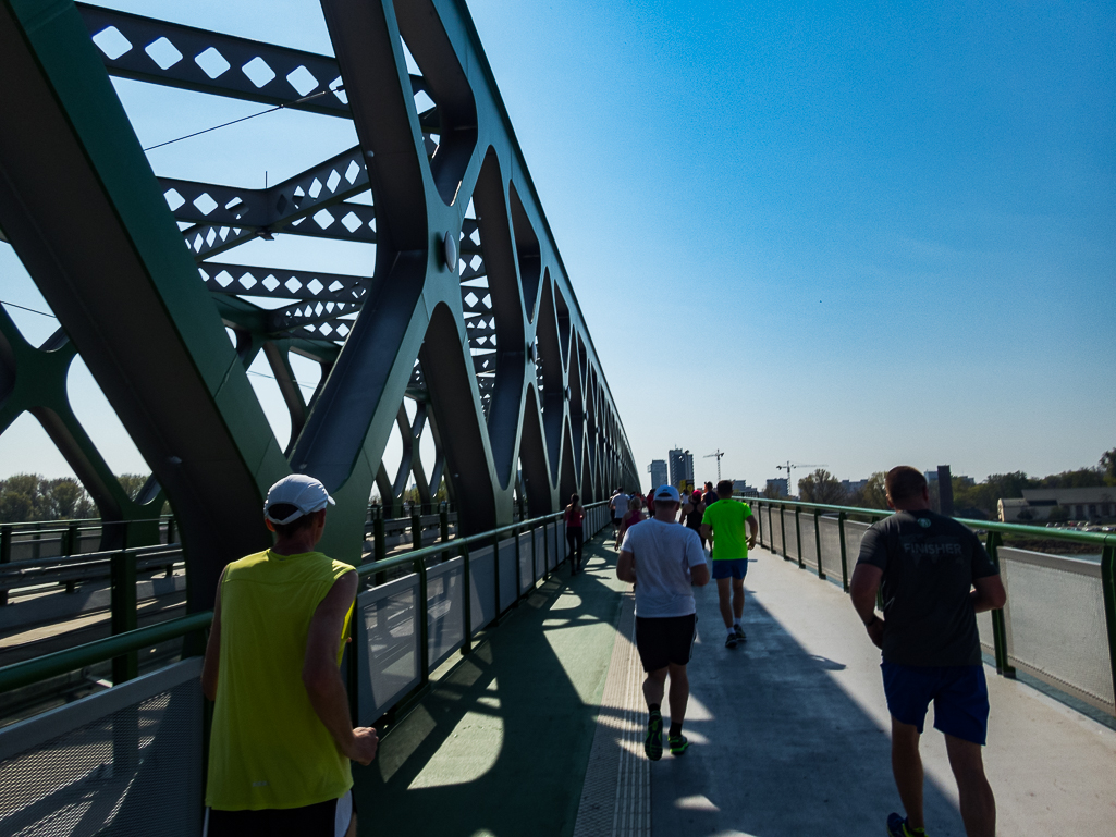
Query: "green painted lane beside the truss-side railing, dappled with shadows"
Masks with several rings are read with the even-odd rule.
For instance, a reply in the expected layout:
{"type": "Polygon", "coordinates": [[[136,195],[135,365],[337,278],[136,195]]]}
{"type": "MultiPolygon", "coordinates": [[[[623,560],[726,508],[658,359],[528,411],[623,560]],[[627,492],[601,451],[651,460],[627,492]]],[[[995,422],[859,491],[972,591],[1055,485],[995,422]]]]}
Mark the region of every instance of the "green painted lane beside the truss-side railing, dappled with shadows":
{"type": "Polygon", "coordinates": [[[626,587],[605,532],[354,764],[362,837],[573,834],[626,587]]]}

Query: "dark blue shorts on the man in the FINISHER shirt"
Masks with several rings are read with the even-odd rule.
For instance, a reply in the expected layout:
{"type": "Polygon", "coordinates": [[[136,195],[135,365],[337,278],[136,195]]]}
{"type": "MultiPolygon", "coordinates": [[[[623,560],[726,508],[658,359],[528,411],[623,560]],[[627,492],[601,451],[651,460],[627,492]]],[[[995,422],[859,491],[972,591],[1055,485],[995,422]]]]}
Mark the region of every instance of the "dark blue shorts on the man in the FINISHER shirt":
{"type": "Polygon", "coordinates": [[[881,663],[892,716],[918,728],[934,702],[934,729],[984,745],[988,739],[988,683],[983,665],[901,665],[881,663]]]}

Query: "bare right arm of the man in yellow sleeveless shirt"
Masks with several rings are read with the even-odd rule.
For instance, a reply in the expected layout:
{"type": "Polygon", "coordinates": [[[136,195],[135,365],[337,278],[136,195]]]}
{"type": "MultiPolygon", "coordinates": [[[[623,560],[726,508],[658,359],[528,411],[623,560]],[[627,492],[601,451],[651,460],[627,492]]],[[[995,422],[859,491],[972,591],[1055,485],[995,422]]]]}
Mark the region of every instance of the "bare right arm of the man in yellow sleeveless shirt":
{"type": "MultiPolygon", "coordinates": [[[[368,764],[376,757],[378,739],[372,727],[353,728],[348,695],[337,667],[337,645],[345,616],[356,598],[356,573],[346,573],[334,581],[310,620],[302,662],[302,684],[314,712],[345,756],[368,764]]],[[[277,730],[277,733],[279,731],[277,730]]]]}

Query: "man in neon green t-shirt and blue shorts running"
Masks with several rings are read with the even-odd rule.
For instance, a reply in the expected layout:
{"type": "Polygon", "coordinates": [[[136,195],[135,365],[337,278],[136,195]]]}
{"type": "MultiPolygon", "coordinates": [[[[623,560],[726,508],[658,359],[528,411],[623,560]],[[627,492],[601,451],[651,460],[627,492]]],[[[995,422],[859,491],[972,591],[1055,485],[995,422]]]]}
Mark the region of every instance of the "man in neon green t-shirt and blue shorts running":
{"type": "Polygon", "coordinates": [[[748,574],[748,550],[756,546],[759,526],[751,507],[732,499],[732,480],[716,483],[716,496],[724,498],[705,508],[701,533],[711,545],[713,578],[721,605],[721,618],[729,631],[724,647],[734,648],[748,637],[740,620],[744,617],[744,576],[748,574]],[[751,536],[744,535],[744,521],[751,536]],[[715,538],[715,540],[714,540],[715,538]],[[731,588],[731,600],[730,600],[731,588]]]}

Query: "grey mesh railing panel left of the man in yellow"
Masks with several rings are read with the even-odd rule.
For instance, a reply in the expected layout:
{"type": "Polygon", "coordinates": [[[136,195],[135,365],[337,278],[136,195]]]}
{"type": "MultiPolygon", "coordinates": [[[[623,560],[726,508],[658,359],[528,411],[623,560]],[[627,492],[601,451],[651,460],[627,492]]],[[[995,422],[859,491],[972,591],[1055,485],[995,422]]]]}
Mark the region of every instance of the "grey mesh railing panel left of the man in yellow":
{"type": "Polygon", "coordinates": [[[201,833],[194,658],[0,732],[0,834],[201,833]]]}

